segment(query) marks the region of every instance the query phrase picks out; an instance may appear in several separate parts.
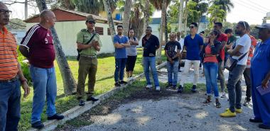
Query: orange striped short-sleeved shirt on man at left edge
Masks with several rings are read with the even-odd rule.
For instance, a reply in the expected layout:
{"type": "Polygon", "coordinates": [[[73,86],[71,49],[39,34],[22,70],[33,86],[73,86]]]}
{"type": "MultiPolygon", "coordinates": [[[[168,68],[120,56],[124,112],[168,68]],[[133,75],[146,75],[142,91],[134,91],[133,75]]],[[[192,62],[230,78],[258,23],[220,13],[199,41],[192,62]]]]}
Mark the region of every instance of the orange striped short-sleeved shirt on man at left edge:
{"type": "Polygon", "coordinates": [[[16,39],[5,27],[0,31],[0,80],[9,80],[18,74],[16,39]]]}

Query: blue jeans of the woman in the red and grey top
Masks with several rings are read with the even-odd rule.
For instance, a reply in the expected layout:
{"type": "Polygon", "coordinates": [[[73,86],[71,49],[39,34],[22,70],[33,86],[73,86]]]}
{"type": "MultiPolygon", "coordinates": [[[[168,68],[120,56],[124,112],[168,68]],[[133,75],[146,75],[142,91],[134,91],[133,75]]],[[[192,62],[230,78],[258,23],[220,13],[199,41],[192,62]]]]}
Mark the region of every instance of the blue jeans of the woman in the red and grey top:
{"type": "Polygon", "coordinates": [[[205,62],[203,64],[206,80],[206,92],[207,96],[211,96],[211,89],[214,89],[215,98],[219,97],[217,89],[217,69],[218,65],[215,62],[205,62]]]}

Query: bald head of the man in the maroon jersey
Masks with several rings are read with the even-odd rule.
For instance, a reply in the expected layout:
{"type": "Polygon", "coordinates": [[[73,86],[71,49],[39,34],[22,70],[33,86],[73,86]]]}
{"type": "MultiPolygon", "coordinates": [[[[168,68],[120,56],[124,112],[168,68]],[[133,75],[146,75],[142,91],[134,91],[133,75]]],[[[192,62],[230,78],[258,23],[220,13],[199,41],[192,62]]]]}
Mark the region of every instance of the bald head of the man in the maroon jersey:
{"type": "Polygon", "coordinates": [[[43,10],[39,14],[39,18],[41,21],[41,24],[44,25],[46,28],[50,28],[55,24],[56,18],[55,13],[50,10],[43,10]]]}

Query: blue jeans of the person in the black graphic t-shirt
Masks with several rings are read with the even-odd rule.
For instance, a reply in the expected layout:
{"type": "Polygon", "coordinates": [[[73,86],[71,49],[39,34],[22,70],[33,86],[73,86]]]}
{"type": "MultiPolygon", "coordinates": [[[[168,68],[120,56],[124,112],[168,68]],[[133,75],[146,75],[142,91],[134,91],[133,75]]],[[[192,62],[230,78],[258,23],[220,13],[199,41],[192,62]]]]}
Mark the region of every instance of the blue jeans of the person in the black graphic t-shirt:
{"type": "Polygon", "coordinates": [[[178,65],[179,65],[178,59],[174,60],[173,64],[171,64],[171,62],[167,61],[168,84],[172,84],[173,86],[176,86],[176,84],[177,84],[178,65]]]}

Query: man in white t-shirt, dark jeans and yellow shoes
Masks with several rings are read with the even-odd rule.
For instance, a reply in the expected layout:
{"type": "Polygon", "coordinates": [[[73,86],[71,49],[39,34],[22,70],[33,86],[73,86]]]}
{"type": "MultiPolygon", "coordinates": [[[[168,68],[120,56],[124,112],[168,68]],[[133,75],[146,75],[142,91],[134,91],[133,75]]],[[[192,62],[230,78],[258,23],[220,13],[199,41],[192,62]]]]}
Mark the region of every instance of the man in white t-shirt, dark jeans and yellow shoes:
{"type": "Polygon", "coordinates": [[[237,59],[237,65],[232,69],[232,71],[229,71],[227,84],[229,108],[225,110],[225,113],[220,114],[222,117],[235,117],[236,113],[242,113],[241,77],[247,66],[247,53],[249,52],[249,48],[252,43],[249,35],[247,35],[247,30],[249,30],[249,24],[247,22],[239,21],[239,23],[237,23],[235,34],[239,35],[240,38],[236,42],[236,47],[227,51],[233,59],[237,59]]]}

